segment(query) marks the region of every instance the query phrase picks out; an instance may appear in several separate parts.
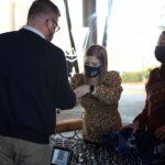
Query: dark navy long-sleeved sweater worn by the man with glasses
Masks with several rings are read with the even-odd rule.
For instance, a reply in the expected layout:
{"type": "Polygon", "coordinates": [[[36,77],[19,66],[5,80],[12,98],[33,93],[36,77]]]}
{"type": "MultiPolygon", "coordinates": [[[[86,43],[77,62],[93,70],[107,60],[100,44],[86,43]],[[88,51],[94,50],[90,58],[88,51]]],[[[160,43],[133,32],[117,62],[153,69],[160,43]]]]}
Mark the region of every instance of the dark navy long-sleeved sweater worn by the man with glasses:
{"type": "Polygon", "coordinates": [[[24,29],[0,35],[1,135],[48,143],[55,109],[75,102],[61,48],[24,29]]]}

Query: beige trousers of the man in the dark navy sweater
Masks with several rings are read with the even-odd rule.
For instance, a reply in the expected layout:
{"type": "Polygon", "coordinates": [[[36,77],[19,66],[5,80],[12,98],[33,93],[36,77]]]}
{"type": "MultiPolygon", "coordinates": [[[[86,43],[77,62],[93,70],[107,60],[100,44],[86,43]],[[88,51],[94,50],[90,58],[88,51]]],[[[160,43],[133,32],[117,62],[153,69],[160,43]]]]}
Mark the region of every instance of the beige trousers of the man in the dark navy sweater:
{"type": "Polygon", "coordinates": [[[51,165],[48,144],[0,135],[0,165],[51,165]]]}

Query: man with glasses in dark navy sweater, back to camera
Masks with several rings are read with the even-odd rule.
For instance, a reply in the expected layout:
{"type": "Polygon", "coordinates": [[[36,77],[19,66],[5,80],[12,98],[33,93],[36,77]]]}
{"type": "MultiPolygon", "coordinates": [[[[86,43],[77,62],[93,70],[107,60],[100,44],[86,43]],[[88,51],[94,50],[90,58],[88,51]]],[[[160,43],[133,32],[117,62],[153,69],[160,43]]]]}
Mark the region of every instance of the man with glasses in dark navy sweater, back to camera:
{"type": "Polygon", "coordinates": [[[0,35],[0,164],[47,165],[55,109],[76,103],[64,52],[51,40],[58,8],[35,0],[21,30],[0,35]]]}

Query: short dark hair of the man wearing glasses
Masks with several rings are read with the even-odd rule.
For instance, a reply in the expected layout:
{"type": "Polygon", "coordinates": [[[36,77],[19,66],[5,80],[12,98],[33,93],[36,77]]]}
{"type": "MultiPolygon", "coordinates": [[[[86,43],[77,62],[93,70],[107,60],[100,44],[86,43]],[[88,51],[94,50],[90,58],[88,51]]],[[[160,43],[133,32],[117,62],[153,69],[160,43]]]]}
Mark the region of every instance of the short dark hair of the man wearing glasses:
{"type": "Polygon", "coordinates": [[[29,10],[28,19],[33,20],[36,16],[46,15],[50,13],[61,15],[57,6],[55,6],[51,0],[35,0],[29,10]]]}

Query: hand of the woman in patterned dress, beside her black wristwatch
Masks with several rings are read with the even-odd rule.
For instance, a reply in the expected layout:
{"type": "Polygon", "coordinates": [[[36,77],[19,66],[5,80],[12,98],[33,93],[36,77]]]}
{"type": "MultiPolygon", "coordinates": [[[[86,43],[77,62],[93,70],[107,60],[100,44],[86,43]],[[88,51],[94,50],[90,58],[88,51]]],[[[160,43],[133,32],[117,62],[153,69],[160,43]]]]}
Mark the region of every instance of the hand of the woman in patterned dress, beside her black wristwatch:
{"type": "Polygon", "coordinates": [[[81,98],[81,97],[84,97],[86,94],[89,92],[89,85],[82,85],[82,86],[76,88],[76,89],[74,90],[74,92],[76,94],[76,97],[77,97],[77,98],[81,98]]]}

